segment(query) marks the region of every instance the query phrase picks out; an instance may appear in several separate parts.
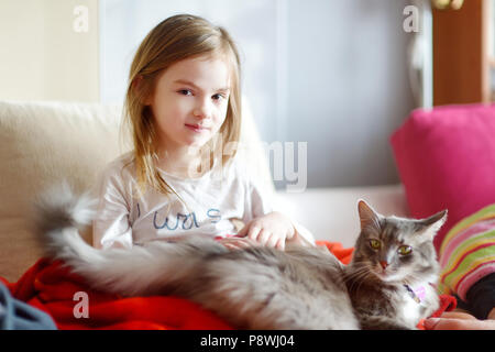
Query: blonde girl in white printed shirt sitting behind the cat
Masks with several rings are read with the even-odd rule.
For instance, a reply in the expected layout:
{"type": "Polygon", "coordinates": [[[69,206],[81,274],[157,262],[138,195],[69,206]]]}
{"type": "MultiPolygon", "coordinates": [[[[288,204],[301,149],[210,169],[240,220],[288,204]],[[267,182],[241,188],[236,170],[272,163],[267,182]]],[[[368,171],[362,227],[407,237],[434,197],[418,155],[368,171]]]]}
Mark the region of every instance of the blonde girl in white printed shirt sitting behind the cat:
{"type": "Polygon", "coordinates": [[[309,233],[272,211],[240,172],[240,59],[227,33],[188,14],[154,28],[131,65],[125,118],[134,150],[110,163],[99,186],[94,245],[130,248],[217,238],[231,249],[312,244],[309,233]],[[221,177],[220,177],[220,176],[221,177]],[[237,233],[233,219],[245,226],[237,233]],[[305,239],[306,238],[306,239],[305,239]]]}

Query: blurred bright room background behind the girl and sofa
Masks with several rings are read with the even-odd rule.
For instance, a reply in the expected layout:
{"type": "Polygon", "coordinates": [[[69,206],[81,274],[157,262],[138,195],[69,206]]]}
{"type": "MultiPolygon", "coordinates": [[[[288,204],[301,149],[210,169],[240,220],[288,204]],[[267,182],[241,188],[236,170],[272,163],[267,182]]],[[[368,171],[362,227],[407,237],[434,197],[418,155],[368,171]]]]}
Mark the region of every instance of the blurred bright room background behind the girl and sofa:
{"type": "MultiPolygon", "coordinates": [[[[307,142],[307,186],[399,183],[413,109],[492,100],[493,0],[2,0],[0,99],[122,103],[133,54],[191,13],[238,43],[262,140],[307,142]]],[[[284,187],[287,180],[275,180],[284,187]]]]}

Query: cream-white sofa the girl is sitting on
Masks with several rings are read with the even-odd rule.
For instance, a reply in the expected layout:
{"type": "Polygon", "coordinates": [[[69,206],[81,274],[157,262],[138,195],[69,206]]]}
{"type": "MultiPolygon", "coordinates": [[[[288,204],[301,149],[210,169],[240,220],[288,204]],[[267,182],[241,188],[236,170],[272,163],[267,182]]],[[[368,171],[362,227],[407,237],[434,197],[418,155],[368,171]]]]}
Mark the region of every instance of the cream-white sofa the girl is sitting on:
{"type": "MultiPolygon", "coordinates": [[[[30,221],[32,202],[41,189],[67,179],[76,190],[86,190],[108,162],[129,150],[128,143],[119,143],[120,120],[119,107],[0,101],[0,276],[16,280],[42,256],[30,221]]],[[[248,110],[241,139],[254,145],[246,163],[266,191],[273,191],[248,110]]],[[[407,215],[400,185],[276,193],[278,209],[304,224],[317,240],[344,246],[352,246],[359,234],[359,198],[383,213],[407,215]]]]}

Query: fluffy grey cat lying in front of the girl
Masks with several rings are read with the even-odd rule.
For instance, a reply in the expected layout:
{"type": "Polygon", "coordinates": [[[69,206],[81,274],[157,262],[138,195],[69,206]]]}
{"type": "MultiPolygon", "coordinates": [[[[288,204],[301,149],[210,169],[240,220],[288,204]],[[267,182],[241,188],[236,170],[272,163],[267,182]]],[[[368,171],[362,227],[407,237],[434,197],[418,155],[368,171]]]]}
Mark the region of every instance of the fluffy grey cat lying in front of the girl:
{"type": "Polygon", "coordinates": [[[432,239],[447,211],[384,217],[361,200],[361,233],[345,266],[326,248],[229,251],[201,237],[97,250],[78,233],[90,208],[68,189],[52,193],[37,202],[35,224],[46,254],[95,289],[178,295],[240,329],[415,329],[439,306],[432,239]]]}

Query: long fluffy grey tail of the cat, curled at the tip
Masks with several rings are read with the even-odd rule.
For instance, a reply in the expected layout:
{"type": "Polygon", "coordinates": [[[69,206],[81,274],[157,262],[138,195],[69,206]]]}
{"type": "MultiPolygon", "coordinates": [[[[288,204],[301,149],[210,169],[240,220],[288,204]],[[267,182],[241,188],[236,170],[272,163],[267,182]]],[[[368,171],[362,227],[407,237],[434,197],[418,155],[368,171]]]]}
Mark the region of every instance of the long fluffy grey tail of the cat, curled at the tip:
{"type": "Polygon", "coordinates": [[[201,238],[97,250],[78,231],[92,219],[91,206],[88,196],[76,196],[67,185],[52,188],[36,201],[35,226],[46,256],[64,261],[97,289],[124,296],[162,294],[198,270],[205,255],[228,251],[201,238]]]}

